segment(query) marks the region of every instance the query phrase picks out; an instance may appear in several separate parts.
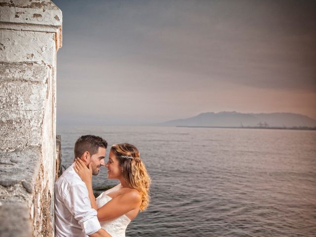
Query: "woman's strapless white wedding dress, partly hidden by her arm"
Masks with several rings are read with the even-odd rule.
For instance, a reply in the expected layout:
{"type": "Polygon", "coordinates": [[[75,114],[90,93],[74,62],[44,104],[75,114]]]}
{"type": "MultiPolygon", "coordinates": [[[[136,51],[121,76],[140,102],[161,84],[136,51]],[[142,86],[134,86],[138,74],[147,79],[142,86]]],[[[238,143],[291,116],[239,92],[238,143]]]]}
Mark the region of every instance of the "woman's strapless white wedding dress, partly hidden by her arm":
{"type": "MultiPolygon", "coordinates": [[[[99,197],[96,198],[98,208],[103,206],[111,199],[112,197],[107,195],[107,191],[103,192],[99,197]]],[[[125,237],[125,230],[129,223],[130,219],[126,215],[122,215],[112,220],[100,222],[102,229],[106,230],[112,237],[125,237]]]]}

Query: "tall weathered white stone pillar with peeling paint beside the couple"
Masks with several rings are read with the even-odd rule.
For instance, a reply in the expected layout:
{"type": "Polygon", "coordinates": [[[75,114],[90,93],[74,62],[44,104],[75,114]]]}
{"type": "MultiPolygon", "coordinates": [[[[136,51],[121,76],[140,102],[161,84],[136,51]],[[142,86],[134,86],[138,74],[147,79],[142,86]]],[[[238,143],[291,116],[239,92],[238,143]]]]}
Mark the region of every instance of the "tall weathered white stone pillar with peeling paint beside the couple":
{"type": "Polygon", "coordinates": [[[56,53],[50,0],[0,0],[0,236],[54,236],[56,53]]]}

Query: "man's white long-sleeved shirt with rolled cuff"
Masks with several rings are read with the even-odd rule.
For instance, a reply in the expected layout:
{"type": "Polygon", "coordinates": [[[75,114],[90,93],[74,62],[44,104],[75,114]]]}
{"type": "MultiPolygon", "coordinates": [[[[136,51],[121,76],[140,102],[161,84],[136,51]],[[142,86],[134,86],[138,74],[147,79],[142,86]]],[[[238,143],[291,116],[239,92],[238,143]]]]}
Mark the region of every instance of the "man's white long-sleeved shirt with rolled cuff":
{"type": "Polygon", "coordinates": [[[55,237],[85,237],[101,229],[88,190],[73,166],[55,182],[55,237]]]}

